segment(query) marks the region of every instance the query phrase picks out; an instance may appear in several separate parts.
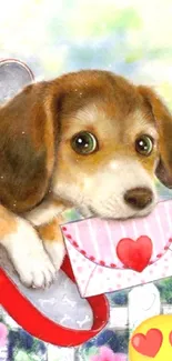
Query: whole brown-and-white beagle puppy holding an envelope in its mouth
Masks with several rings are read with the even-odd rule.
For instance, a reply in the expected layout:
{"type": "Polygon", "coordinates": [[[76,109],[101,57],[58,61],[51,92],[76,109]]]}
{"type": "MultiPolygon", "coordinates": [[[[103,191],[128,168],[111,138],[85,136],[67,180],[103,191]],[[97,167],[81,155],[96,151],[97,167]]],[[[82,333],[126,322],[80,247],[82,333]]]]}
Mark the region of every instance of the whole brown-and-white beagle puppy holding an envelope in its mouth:
{"type": "Polygon", "coordinates": [[[151,212],[154,176],[172,185],[171,139],[172,117],[154,91],[108,71],[33,83],[1,107],[0,242],[21,281],[53,281],[65,209],[111,219],[151,212]]]}

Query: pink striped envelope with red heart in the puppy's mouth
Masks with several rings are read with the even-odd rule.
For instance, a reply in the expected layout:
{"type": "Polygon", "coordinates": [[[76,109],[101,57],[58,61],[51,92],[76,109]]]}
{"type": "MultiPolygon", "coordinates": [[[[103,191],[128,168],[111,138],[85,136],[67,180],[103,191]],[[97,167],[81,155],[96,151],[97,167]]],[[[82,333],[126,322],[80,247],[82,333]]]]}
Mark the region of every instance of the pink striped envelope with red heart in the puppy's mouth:
{"type": "Polygon", "coordinates": [[[62,227],[81,297],[172,275],[172,200],[144,218],[98,218],[62,227]]]}

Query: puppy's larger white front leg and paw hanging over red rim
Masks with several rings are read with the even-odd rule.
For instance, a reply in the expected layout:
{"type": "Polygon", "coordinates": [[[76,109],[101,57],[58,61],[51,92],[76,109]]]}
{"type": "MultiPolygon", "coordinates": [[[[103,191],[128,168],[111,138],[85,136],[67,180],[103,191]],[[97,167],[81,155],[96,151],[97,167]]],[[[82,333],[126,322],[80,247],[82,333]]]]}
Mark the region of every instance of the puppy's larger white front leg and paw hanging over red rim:
{"type": "Polygon", "coordinates": [[[0,205],[0,243],[6,248],[21,281],[28,287],[51,284],[55,269],[37,231],[24,219],[0,205]]]}

